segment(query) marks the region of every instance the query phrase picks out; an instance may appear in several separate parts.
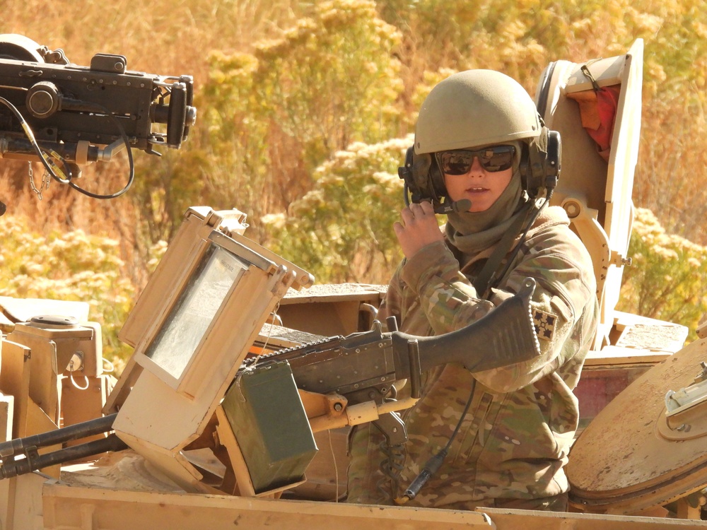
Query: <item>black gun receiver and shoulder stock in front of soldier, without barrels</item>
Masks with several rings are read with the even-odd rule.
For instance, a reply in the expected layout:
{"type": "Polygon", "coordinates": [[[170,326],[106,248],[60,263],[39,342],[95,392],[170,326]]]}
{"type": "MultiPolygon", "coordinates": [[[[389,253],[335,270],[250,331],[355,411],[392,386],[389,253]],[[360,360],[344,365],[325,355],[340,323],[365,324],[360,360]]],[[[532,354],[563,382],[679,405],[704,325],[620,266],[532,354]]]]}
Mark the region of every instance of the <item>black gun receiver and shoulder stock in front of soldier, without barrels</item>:
{"type": "MultiPolygon", "coordinates": [[[[397,331],[395,319],[390,318],[388,329],[394,331],[382,333],[380,322],[376,321],[370,331],[331,337],[255,358],[239,370],[238,377],[267,377],[273,367],[287,363],[300,391],[338,396],[328,403],[338,406],[339,411],[371,401],[384,405],[392,384],[407,379],[412,400],[407,406],[411,406],[420,397],[421,373],[438,365],[459,363],[470,372],[478,372],[539,355],[529,305],[534,288],[532,278],[527,278],[513,298],[478,322],[448,334],[412,336],[397,331]]],[[[406,406],[399,404],[399,409],[402,408],[406,406]]],[[[327,421],[310,417],[315,430],[320,423],[324,428],[332,428],[327,421]]],[[[373,424],[390,444],[407,441],[404,423],[397,413],[383,408],[373,424]]]]}

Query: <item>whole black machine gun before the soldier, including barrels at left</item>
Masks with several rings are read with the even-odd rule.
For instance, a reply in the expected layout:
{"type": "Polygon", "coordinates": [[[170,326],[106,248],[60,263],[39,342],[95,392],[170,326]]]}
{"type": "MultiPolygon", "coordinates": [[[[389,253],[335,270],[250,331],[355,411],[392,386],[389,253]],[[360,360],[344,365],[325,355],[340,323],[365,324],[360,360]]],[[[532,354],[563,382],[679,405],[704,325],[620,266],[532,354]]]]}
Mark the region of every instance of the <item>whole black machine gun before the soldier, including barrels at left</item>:
{"type": "MultiPolygon", "coordinates": [[[[250,436],[259,427],[260,432],[272,432],[277,437],[277,442],[281,442],[284,426],[278,423],[277,419],[274,420],[277,425],[264,425],[272,420],[272,416],[263,418],[268,415],[259,414],[257,407],[264,406],[269,411],[277,411],[280,418],[289,416],[288,406],[291,404],[293,391],[328,396],[332,408],[346,418],[347,409],[351,406],[375,401],[383,404],[391,384],[400,379],[409,379],[411,399],[418,399],[421,373],[438,365],[460,363],[470,371],[478,371],[530,360],[539,354],[539,344],[530,314],[530,297],[534,287],[534,281],[528,278],[522,290],[513,298],[503,302],[478,322],[449,334],[418,337],[400,331],[383,333],[380,323],[376,322],[371,331],[346,337],[331,337],[325,341],[288,348],[243,363],[223,399],[231,427],[236,437],[240,436],[241,440],[244,432],[250,436]],[[284,381],[286,385],[291,382],[298,390],[282,387],[276,380],[278,378],[272,377],[274,372],[282,370],[286,370],[286,377],[279,378],[280,381],[284,381]],[[263,390],[266,394],[256,395],[263,390]],[[233,404],[240,407],[240,411],[235,411],[235,419],[228,414],[233,411],[233,404]],[[248,416],[253,420],[243,420],[248,416]]],[[[390,411],[381,409],[380,417],[377,415],[373,420],[389,439],[394,440],[393,443],[402,443],[407,439],[404,424],[394,412],[406,406],[409,405],[392,404],[390,411]]],[[[127,445],[115,435],[109,435],[102,440],[78,444],[44,455],[37,454],[38,447],[108,432],[112,430],[113,421],[117,416],[119,413],[43,435],[1,443],[0,457],[3,463],[0,466],[0,477],[9,478],[79,457],[126,448],[127,445]]],[[[368,421],[363,416],[359,416],[358,420],[352,420],[350,416],[344,420],[344,425],[368,421]]],[[[302,423],[306,424],[305,428],[310,434],[312,430],[339,426],[335,418],[333,421],[332,418],[323,422],[320,420],[318,425],[317,418],[303,418],[302,423]]],[[[298,428],[301,426],[298,425],[298,428]]],[[[239,443],[244,448],[247,447],[247,443],[239,443]]],[[[258,440],[255,444],[257,447],[267,445],[268,440],[258,440]]],[[[248,452],[244,452],[243,457],[246,461],[257,459],[248,452]]],[[[308,462],[305,458],[298,465],[306,467],[308,462]]],[[[249,468],[257,470],[258,466],[249,463],[249,468]]],[[[295,468],[293,473],[300,471],[303,472],[295,468]]],[[[267,488],[274,481],[282,480],[281,476],[267,476],[260,480],[254,477],[254,483],[263,484],[261,488],[267,488]]]]}

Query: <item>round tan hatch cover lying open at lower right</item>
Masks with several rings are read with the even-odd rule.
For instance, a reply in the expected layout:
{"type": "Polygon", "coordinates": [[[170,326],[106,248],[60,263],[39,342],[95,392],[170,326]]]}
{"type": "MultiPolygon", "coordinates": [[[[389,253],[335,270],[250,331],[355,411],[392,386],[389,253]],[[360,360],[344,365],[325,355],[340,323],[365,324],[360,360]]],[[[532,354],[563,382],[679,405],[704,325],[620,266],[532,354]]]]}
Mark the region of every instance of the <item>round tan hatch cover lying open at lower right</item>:
{"type": "MultiPolygon", "coordinates": [[[[567,467],[578,505],[635,512],[707,485],[707,437],[675,432],[677,439],[669,440],[660,433],[667,421],[665,394],[692,384],[703,360],[707,339],[645,372],[590,423],[567,467]]],[[[703,408],[699,421],[706,418],[703,408]]]]}

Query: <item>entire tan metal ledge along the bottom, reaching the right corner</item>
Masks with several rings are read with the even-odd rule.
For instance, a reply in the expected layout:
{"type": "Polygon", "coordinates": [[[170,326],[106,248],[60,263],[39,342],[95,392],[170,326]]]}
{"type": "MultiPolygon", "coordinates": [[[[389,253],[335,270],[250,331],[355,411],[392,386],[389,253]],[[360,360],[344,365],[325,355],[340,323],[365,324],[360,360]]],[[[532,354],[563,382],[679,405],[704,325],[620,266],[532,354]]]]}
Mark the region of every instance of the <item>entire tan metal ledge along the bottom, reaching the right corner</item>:
{"type": "Polygon", "coordinates": [[[178,493],[126,492],[47,483],[42,492],[47,530],[149,528],[211,530],[687,530],[707,522],[656,517],[479,509],[348,505],[178,493]]]}

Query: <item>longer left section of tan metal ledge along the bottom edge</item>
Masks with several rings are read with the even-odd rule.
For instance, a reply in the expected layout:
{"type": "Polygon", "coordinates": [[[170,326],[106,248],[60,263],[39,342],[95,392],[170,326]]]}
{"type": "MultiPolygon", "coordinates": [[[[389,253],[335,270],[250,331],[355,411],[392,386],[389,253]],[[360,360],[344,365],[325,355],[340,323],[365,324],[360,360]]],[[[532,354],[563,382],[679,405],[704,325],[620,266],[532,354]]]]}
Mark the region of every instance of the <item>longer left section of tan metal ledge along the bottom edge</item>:
{"type": "Polygon", "coordinates": [[[43,497],[47,530],[493,529],[484,514],[451,510],[225,495],[121,492],[70,488],[59,483],[46,485],[43,497]]]}

